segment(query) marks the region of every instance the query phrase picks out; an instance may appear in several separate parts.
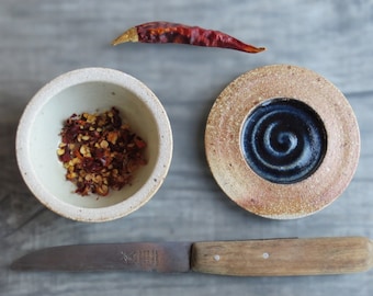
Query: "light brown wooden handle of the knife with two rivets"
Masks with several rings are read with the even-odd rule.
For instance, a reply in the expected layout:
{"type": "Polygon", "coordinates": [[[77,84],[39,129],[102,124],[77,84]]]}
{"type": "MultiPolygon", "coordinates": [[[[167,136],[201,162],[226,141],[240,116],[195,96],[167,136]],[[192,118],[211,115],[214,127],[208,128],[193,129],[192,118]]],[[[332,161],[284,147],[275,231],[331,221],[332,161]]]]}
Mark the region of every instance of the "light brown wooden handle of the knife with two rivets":
{"type": "Polygon", "coordinates": [[[373,266],[364,237],[195,242],[195,272],[239,276],[342,274],[373,266]]]}

